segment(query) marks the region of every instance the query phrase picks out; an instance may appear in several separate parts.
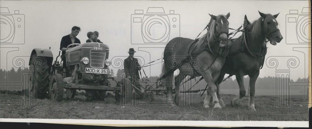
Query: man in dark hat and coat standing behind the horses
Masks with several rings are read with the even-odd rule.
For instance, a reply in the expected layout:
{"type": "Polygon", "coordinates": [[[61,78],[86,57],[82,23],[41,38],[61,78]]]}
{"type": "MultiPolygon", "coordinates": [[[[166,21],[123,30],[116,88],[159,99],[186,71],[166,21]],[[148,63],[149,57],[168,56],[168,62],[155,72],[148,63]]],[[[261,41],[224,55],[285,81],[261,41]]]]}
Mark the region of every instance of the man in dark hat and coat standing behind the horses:
{"type": "MultiPolygon", "coordinates": [[[[131,77],[130,81],[134,84],[135,87],[141,90],[141,84],[139,83],[139,70],[141,70],[141,66],[138,62],[137,58],[134,58],[134,49],[129,49],[129,57],[124,59],[124,73],[126,78],[131,77]]],[[[141,98],[143,93],[135,88],[136,98],[141,98]]]]}

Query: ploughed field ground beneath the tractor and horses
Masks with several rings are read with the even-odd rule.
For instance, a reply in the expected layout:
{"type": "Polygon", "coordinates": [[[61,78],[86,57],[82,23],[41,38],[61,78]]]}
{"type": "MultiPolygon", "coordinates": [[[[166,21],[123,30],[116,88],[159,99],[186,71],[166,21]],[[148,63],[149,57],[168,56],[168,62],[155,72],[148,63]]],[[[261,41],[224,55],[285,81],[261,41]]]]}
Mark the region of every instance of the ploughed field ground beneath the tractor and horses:
{"type": "MultiPolygon", "coordinates": [[[[185,95],[185,94],[182,94],[185,95]]],[[[185,97],[191,105],[181,102],[182,107],[166,104],[160,95],[154,95],[154,100],[140,101],[134,106],[120,106],[114,96],[109,96],[105,101],[87,102],[84,92],[76,93],[73,99],[61,102],[52,102],[48,99],[36,99],[37,106],[25,104],[22,100],[28,99],[17,94],[0,94],[0,118],[41,118],[41,119],[115,119],[115,120],[195,120],[195,121],[308,121],[308,97],[290,96],[290,107],[278,107],[282,98],[275,96],[256,96],[255,108],[257,111],[248,110],[249,97],[244,97],[241,105],[232,107],[230,101],[235,95],[221,95],[225,107],[213,109],[203,107],[204,96],[192,94],[185,97]],[[188,99],[191,98],[191,99],[188,99]],[[300,100],[295,101],[293,100],[300,100]],[[142,104],[143,103],[143,104],[142,104]],[[293,104],[297,103],[297,104],[293,104]],[[274,109],[274,107],[276,107],[274,109]],[[266,113],[284,112],[284,114],[266,113]],[[291,114],[292,112],[299,112],[291,114]],[[18,113],[19,112],[19,113],[18,113]],[[286,113],[285,113],[286,112],[286,113]],[[288,113],[287,113],[288,112],[288,113]],[[135,113],[135,114],[134,114],[135,113]]],[[[182,96],[183,97],[183,96],[182,96]]],[[[29,102],[29,101],[27,101],[29,102]]]]}

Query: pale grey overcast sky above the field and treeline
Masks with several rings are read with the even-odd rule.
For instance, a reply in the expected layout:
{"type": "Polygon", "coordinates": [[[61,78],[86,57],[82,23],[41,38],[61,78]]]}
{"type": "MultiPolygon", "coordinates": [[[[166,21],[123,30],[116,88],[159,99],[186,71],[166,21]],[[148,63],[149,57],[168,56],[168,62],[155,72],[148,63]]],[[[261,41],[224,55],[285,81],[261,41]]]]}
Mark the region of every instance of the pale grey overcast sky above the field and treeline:
{"type": "MultiPolygon", "coordinates": [[[[275,77],[277,71],[285,69],[290,70],[292,79],[307,77],[308,45],[305,42],[307,25],[311,22],[307,22],[307,13],[302,12],[302,8],[308,4],[308,1],[0,1],[0,68],[29,67],[28,56],[33,48],[51,47],[55,58],[61,38],[71,32],[71,27],[79,26],[81,32],[77,38],[81,43],[88,39],[87,32],[100,33],[99,39],[110,47],[109,58],[113,62],[110,68],[116,73],[118,68],[123,68],[122,61],[128,57],[129,48],[137,51],[134,56],[142,60],[143,65],[161,58],[165,42],[170,39],[196,38],[210,20],[208,13],[230,12],[229,27],[238,28],[245,14],[251,22],[259,18],[259,10],[272,15],[279,13],[276,20],[284,37],[276,46],[267,45],[267,63],[274,65],[276,58],[278,66],[265,62],[259,77],[275,77]],[[6,7],[9,13],[4,11],[6,7]],[[154,13],[147,12],[149,7],[149,12],[154,13]],[[164,13],[162,8],[155,7],[162,7],[164,13]],[[6,23],[8,19],[12,25],[6,23]]],[[[148,76],[157,76],[161,73],[161,64],[144,67],[144,70],[148,76]]]]}

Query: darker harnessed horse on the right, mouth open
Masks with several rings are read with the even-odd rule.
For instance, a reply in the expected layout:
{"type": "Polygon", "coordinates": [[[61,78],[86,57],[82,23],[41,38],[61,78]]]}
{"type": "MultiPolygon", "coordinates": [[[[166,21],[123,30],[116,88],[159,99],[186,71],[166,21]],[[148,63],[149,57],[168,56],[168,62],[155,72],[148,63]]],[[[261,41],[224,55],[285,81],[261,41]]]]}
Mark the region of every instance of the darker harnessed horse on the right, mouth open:
{"type": "MultiPolygon", "coordinates": [[[[250,98],[249,109],[255,109],[255,83],[259,76],[260,69],[263,66],[266,55],[266,42],[270,41],[272,45],[280,42],[283,37],[278,29],[276,15],[264,14],[258,11],[260,16],[253,23],[247,20],[245,15],[244,32],[237,39],[233,39],[226,62],[222,67],[218,84],[220,84],[225,74],[235,75],[239,86],[239,95],[231,101],[232,106],[237,106],[241,98],[246,95],[244,86],[244,76],[250,77],[250,98]],[[266,41],[267,39],[267,41],[266,41]]],[[[230,77],[229,76],[229,77],[230,77]]],[[[217,87],[219,89],[219,87],[217,87]]],[[[209,95],[211,96],[211,95],[209,95]]],[[[209,97],[208,96],[208,97],[209,97]]],[[[219,92],[217,97],[220,97],[219,92]]]]}

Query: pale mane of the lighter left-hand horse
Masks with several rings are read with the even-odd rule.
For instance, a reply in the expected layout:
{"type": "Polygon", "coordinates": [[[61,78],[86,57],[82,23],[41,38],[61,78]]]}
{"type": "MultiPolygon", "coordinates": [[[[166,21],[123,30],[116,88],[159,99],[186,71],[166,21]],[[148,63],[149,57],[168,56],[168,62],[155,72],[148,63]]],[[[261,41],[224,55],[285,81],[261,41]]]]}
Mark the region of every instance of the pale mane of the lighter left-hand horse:
{"type": "MultiPolygon", "coordinates": [[[[222,17],[228,19],[228,17],[227,17],[226,15],[220,14],[220,15],[218,15],[217,18],[216,18],[217,21],[218,21],[218,20],[221,20],[222,17]]],[[[207,35],[209,35],[209,42],[214,41],[214,38],[215,38],[215,36],[214,36],[214,33],[215,33],[214,27],[215,27],[215,24],[216,24],[216,20],[212,20],[211,26],[210,26],[210,28],[209,28],[209,31],[208,31],[206,34],[204,34],[202,37],[199,38],[199,40],[198,40],[198,42],[196,43],[195,47],[201,47],[202,43],[205,42],[204,40],[206,39],[207,35]]]]}

